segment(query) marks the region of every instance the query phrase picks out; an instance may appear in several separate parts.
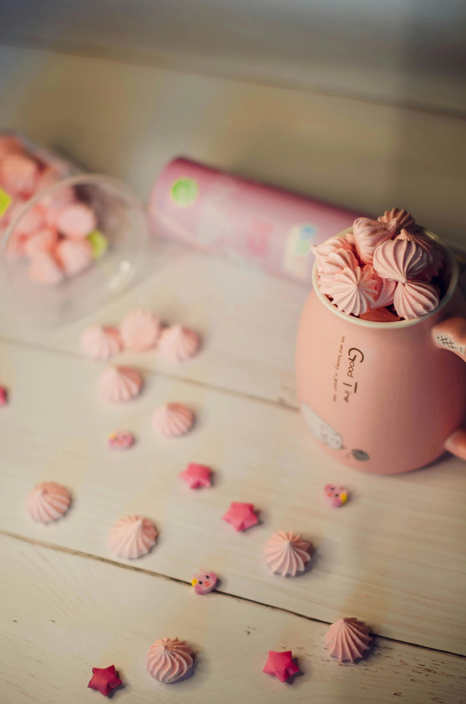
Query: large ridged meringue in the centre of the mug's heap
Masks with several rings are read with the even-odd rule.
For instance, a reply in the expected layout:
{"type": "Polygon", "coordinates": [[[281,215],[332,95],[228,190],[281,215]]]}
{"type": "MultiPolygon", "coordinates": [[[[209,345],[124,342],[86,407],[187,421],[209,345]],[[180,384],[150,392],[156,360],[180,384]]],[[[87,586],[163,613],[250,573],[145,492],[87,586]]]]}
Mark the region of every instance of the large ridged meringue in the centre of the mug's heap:
{"type": "Polygon", "coordinates": [[[384,242],[374,252],[374,269],[385,279],[405,283],[422,272],[426,264],[424,249],[408,239],[384,242]]]}

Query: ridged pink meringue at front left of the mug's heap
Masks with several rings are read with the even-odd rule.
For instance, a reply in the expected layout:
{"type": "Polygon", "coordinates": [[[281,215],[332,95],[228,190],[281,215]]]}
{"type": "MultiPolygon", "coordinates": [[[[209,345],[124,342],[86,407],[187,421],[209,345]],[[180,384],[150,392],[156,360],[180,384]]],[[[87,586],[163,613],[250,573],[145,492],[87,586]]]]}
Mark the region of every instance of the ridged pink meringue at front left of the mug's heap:
{"type": "Polygon", "coordinates": [[[354,271],[344,269],[335,274],[334,282],[329,286],[329,296],[338,310],[346,315],[359,315],[369,308],[374,308],[377,297],[377,284],[370,273],[357,267],[354,271]]]}

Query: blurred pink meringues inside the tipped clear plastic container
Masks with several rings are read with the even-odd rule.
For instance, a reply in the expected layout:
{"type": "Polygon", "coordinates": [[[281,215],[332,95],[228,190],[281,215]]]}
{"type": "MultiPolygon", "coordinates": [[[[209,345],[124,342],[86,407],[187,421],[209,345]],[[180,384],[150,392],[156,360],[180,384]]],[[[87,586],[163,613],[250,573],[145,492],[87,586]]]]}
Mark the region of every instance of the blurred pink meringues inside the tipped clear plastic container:
{"type": "Polygon", "coordinates": [[[77,276],[101,253],[95,246],[96,215],[75,188],[56,189],[26,210],[32,196],[63,177],[58,168],[28,153],[20,139],[0,135],[0,188],[11,199],[0,218],[0,232],[18,219],[6,245],[6,257],[27,261],[27,277],[45,286],[77,276]]]}

